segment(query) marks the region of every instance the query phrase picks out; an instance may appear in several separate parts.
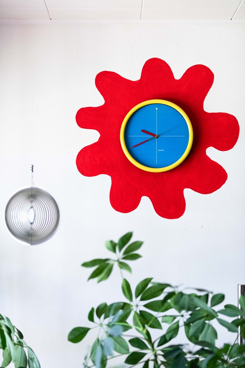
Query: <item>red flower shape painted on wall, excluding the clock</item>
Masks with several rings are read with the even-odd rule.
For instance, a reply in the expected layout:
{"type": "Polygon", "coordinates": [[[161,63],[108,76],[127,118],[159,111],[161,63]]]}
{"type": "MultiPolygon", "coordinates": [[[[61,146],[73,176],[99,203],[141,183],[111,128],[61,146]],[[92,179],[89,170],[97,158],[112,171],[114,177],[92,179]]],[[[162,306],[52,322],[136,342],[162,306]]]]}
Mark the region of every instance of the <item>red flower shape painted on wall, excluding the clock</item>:
{"type": "Polygon", "coordinates": [[[110,202],[119,212],[133,211],[141,197],[147,196],[159,216],[179,218],[185,211],[185,188],[209,194],[226,182],[226,171],[206,155],[206,149],[227,151],[239,135],[233,115],[204,111],[203,101],[212,84],[213,73],[204,65],[192,66],[175,79],[167,63],[157,58],[146,61],[137,81],[115,72],[100,72],[96,87],[104,105],[84,107],[76,114],[79,127],[97,130],[100,138],[78,153],[78,170],[85,176],[111,176],[110,202]],[[190,118],[194,132],[192,148],[184,162],[161,173],[134,166],[120,144],[120,128],[126,114],[137,104],[152,99],[180,106],[190,118]]]}

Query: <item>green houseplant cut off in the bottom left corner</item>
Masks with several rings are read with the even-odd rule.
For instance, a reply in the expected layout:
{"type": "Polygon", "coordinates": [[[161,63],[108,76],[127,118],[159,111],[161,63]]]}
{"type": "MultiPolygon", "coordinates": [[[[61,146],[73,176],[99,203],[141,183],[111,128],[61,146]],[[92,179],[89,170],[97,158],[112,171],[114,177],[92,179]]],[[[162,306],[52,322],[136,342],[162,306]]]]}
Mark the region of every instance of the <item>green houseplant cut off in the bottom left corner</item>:
{"type": "Polygon", "coordinates": [[[23,339],[21,331],[10,319],[0,314],[0,350],[3,350],[1,367],[7,367],[13,362],[15,368],[40,368],[36,354],[23,339]]]}

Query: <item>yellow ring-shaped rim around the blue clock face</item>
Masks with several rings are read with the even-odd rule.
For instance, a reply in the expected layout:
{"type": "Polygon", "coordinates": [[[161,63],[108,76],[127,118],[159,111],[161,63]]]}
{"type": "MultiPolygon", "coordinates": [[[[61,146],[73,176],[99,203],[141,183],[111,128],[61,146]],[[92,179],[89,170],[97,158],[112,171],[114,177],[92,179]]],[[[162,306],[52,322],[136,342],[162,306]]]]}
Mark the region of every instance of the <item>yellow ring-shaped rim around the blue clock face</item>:
{"type": "Polygon", "coordinates": [[[125,116],[125,118],[123,119],[122,122],[122,126],[121,126],[121,130],[120,130],[120,142],[121,142],[121,146],[123,149],[123,152],[125,153],[125,156],[127,157],[127,159],[134,164],[134,166],[138,167],[141,170],[145,170],[145,171],[149,171],[152,173],[161,173],[163,171],[168,171],[168,170],[172,170],[174,169],[174,167],[179,166],[179,164],[181,164],[184,159],[188,156],[190,150],[191,150],[191,146],[192,146],[192,142],[193,142],[193,129],[192,129],[192,125],[191,125],[191,121],[188,118],[187,114],[184,112],[184,110],[181,109],[181,107],[179,107],[178,105],[176,105],[173,102],[167,101],[167,100],[147,100],[144,102],[139,103],[138,105],[134,106],[133,109],[131,109],[127,115],[125,116]],[[136,112],[138,109],[140,109],[143,106],[146,105],[151,105],[154,103],[161,103],[162,105],[167,105],[170,107],[173,107],[173,109],[177,110],[184,118],[187,127],[188,127],[188,131],[189,131],[189,140],[188,140],[188,144],[187,144],[187,148],[185,149],[185,152],[183,153],[183,155],[179,158],[179,160],[177,160],[176,162],[174,162],[173,164],[169,165],[169,166],[165,166],[165,167],[148,167],[148,166],[144,166],[141,163],[139,163],[138,161],[136,161],[129,153],[129,151],[127,150],[126,144],[125,144],[125,138],[124,138],[124,133],[125,133],[125,128],[126,128],[126,124],[129,120],[129,118],[131,117],[131,115],[133,115],[134,112],[136,112]]]}

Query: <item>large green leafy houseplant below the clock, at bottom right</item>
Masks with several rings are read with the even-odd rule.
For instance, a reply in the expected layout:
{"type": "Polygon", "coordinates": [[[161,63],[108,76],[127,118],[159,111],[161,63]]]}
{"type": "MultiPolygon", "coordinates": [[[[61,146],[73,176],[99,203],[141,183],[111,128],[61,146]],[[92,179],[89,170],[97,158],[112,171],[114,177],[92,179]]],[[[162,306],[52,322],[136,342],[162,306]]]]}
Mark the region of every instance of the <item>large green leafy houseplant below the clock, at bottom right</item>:
{"type": "MultiPolygon", "coordinates": [[[[219,309],[217,306],[223,302],[224,294],[202,289],[185,293],[179,287],[154,282],[152,277],[140,281],[133,293],[123,272],[131,272],[128,261],[141,257],[137,251],[143,242],[129,244],[131,237],[132,233],[127,233],[118,243],[112,240],[105,243],[115,259],[93,259],[82,264],[95,267],[89,279],[97,278],[98,282],[108,279],[117,265],[125,298],[91,308],[88,315],[91,327],[76,327],[69,333],[68,340],[78,343],[91,328],[98,328],[96,340],[84,358],[84,367],[105,368],[107,362],[118,355],[125,355],[128,366],[141,364],[143,368],[245,367],[245,346],[236,343],[238,326],[245,337],[243,311],[231,304],[219,309]],[[232,321],[227,321],[227,316],[232,321]],[[217,347],[214,321],[234,333],[233,344],[217,347]],[[181,328],[188,343],[174,344],[172,340],[181,328]],[[154,329],[159,330],[157,338],[152,336],[154,329]]],[[[240,298],[240,305],[245,310],[245,297],[240,298]]]]}

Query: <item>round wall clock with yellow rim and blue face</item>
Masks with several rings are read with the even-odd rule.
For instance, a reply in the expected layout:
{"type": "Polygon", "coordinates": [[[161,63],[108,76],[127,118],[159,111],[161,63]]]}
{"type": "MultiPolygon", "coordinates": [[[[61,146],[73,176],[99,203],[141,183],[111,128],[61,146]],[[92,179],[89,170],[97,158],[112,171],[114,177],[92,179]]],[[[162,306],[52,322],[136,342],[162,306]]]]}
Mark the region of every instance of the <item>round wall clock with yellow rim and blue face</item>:
{"type": "Polygon", "coordinates": [[[120,139],[127,158],[146,171],[173,169],[190,152],[193,131],[185,112],[165,100],[149,100],[125,117],[120,139]]]}

